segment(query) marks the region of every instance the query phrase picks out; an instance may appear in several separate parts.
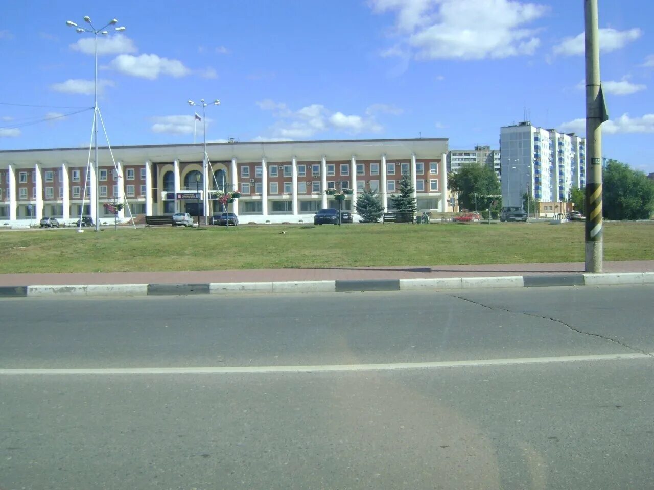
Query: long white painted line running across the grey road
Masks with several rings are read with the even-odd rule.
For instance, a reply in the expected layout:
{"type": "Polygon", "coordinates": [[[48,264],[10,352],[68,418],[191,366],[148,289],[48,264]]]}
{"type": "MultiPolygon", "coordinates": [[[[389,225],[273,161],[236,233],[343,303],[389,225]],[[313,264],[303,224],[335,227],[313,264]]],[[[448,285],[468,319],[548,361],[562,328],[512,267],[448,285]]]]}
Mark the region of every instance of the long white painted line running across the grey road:
{"type": "Polygon", "coordinates": [[[243,367],[168,367],[168,368],[0,368],[0,375],[16,374],[269,374],[277,372],[387,371],[395,369],[438,369],[487,366],[515,366],[583,361],[629,361],[651,359],[654,353],[564,355],[559,357],[519,357],[517,359],[481,359],[438,361],[433,363],[350,364],[324,366],[243,366],[243,367]]]}

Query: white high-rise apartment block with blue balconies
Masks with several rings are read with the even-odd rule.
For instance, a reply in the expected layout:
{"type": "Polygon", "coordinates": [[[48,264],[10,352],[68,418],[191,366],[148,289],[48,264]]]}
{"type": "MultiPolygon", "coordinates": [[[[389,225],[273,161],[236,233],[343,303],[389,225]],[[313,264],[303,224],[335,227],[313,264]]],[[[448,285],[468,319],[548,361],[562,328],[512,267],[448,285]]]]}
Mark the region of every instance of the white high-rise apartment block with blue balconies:
{"type": "Polygon", "coordinates": [[[530,122],[502,127],[504,206],[521,206],[525,193],[543,203],[566,201],[573,186],[586,184],[585,146],[586,140],[577,135],[530,122]]]}

